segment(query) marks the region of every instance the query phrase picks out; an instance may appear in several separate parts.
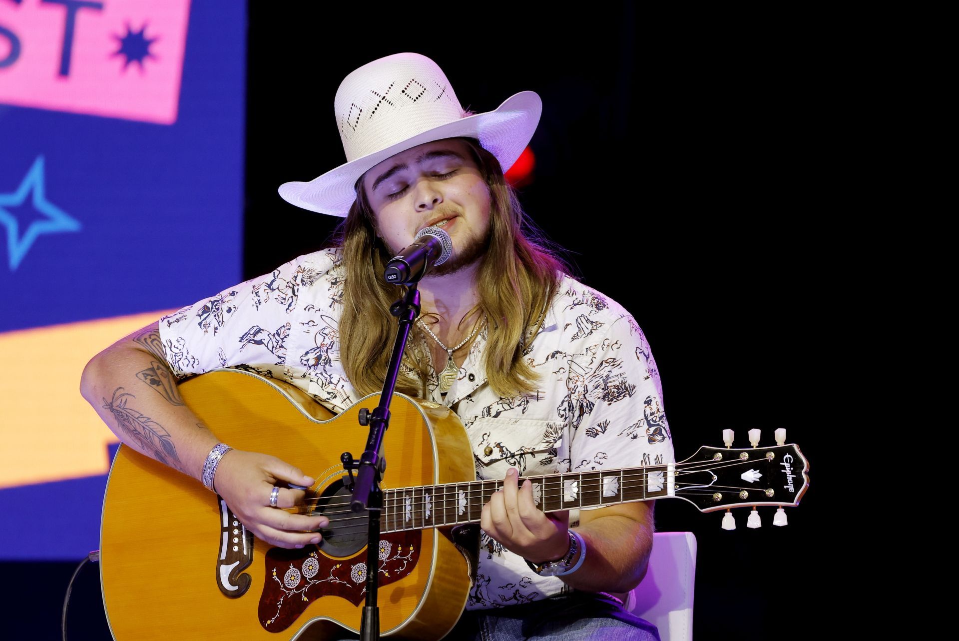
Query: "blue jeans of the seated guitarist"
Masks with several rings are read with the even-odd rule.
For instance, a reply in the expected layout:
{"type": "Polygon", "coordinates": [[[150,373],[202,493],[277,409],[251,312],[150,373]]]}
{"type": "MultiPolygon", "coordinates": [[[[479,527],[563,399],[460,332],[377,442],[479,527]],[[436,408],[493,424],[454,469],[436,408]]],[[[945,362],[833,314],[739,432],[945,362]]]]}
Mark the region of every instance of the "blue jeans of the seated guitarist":
{"type": "Polygon", "coordinates": [[[451,641],[660,641],[656,626],[630,614],[620,602],[592,592],[469,610],[446,637],[451,641]]]}

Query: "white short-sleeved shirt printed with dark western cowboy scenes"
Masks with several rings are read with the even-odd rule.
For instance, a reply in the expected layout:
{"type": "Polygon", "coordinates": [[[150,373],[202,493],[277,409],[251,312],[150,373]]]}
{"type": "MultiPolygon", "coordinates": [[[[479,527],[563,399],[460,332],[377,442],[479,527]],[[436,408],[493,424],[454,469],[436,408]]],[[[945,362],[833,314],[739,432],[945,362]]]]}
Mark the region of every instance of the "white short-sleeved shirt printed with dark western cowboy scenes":
{"type": "MultiPolygon", "coordinates": [[[[260,371],[340,412],[359,400],[339,354],[345,277],[339,249],[324,249],[184,307],[160,320],[167,359],[180,377],[260,371]]],[[[656,362],[639,325],[614,300],[563,277],[525,348],[540,375],[535,392],[503,397],[486,384],[486,339],[484,326],[445,396],[427,366],[426,400],[460,417],[478,478],[502,479],[510,466],[531,476],[674,463],[656,362]]],[[[430,358],[427,345],[418,351],[430,358]]],[[[467,609],[536,601],[564,587],[482,534],[467,609]]]]}

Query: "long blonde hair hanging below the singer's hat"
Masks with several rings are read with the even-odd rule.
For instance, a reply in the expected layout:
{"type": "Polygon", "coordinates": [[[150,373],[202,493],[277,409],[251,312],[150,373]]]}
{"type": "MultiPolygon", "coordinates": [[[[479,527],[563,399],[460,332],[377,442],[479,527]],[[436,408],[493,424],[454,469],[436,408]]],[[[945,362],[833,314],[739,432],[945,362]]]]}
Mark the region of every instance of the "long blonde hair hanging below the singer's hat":
{"type": "MultiPolygon", "coordinates": [[[[488,320],[484,356],[486,380],[504,397],[536,389],[536,375],[523,358],[524,346],[542,322],[541,312],[554,296],[559,278],[568,272],[540,232],[526,218],[513,188],[503,178],[496,156],[475,138],[469,146],[490,191],[490,231],[486,253],[477,271],[479,303],[463,320],[488,320]]],[[[387,285],[382,274],[392,254],[377,238],[376,219],[358,180],[357,200],[337,228],[334,242],[343,250],[345,282],[339,320],[339,353],[346,376],[360,394],[383,388],[386,366],[396,335],[390,305],[403,297],[403,288],[387,285]]],[[[414,332],[420,333],[414,325],[414,332]]],[[[404,367],[396,389],[427,396],[426,363],[410,335],[404,367]]]]}

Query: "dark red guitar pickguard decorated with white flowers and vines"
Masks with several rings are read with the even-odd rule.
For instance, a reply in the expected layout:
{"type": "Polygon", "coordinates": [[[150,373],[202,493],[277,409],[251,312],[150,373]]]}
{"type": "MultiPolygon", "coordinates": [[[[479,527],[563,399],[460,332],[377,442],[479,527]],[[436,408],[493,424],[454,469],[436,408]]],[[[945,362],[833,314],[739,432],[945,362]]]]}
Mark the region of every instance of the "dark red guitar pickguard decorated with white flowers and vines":
{"type": "MultiPolygon", "coordinates": [[[[383,534],[377,562],[380,585],[399,581],[419,560],[422,532],[383,534]]],[[[260,625],[270,632],[289,628],[308,605],[327,595],[360,605],[366,598],[366,550],[352,558],[329,558],[316,545],[301,550],[272,548],[266,556],[260,596],[260,625]]]]}

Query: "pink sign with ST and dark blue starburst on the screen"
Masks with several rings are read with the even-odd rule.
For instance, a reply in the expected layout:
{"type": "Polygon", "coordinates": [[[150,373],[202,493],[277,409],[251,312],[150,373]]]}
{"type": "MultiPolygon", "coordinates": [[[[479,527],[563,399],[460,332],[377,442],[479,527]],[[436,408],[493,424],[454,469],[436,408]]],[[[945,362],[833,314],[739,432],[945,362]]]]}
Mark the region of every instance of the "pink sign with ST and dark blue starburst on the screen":
{"type": "Polygon", "coordinates": [[[190,0],[0,0],[0,103],[176,121],[190,0]]]}

